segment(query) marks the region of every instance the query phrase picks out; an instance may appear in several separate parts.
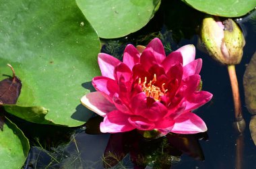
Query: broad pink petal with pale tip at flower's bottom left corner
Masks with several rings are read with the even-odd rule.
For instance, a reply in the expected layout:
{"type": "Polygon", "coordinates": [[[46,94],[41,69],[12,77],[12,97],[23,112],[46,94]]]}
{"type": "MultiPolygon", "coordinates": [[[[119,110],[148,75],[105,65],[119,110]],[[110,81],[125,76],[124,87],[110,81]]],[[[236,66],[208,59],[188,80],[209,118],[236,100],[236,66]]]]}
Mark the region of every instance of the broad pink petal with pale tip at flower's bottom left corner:
{"type": "Polygon", "coordinates": [[[102,133],[119,133],[131,131],[135,129],[135,127],[129,123],[129,117],[129,115],[118,110],[111,111],[100,123],[100,131],[102,133]]]}

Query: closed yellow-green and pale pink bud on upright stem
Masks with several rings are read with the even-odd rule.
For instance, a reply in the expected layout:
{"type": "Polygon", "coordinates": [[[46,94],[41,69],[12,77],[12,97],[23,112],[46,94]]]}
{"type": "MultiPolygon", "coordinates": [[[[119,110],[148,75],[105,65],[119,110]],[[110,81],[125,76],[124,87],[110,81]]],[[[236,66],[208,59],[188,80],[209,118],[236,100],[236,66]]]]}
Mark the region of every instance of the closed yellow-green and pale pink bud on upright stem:
{"type": "Polygon", "coordinates": [[[201,42],[207,52],[222,64],[239,64],[243,56],[245,38],[232,19],[220,21],[207,15],[201,26],[201,42]]]}

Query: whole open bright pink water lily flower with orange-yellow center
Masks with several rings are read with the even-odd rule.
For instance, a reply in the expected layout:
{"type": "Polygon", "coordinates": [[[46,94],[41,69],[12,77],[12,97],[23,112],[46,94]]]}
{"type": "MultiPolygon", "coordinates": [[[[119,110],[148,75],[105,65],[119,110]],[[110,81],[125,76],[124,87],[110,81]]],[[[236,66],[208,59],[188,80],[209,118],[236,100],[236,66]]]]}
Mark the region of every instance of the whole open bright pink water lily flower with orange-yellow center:
{"type": "Polygon", "coordinates": [[[161,133],[207,131],[192,111],[212,99],[199,91],[202,60],[195,60],[195,47],[187,45],[166,56],[155,38],[141,54],[129,44],[123,62],[98,54],[102,76],[92,79],[96,92],[82,97],[88,109],[104,117],[103,133],[157,129],[161,133]]]}

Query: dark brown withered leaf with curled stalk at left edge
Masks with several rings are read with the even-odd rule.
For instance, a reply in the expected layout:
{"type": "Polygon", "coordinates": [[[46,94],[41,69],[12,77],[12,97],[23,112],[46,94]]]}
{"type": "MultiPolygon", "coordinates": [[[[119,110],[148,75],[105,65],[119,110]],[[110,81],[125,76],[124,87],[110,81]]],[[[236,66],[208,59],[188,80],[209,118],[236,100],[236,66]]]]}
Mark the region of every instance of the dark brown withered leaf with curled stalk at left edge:
{"type": "Polygon", "coordinates": [[[15,76],[13,67],[10,64],[7,65],[11,68],[13,76],[0,81],[0,105],[14,105],[22,89],[22,82],[15,76]]]}

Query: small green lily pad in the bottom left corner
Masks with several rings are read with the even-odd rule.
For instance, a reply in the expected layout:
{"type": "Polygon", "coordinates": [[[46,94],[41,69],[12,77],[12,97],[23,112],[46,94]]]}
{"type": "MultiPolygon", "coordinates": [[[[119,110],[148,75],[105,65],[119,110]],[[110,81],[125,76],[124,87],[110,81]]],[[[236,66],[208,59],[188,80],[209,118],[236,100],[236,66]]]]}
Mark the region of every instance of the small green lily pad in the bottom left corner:
{"type": "Polygon", "coordinates": [[[0,168],[22,168],[29,150],[24,133],[9,119],[5,119],[3,131],[0,131],[0,168]]]}

